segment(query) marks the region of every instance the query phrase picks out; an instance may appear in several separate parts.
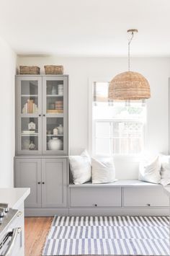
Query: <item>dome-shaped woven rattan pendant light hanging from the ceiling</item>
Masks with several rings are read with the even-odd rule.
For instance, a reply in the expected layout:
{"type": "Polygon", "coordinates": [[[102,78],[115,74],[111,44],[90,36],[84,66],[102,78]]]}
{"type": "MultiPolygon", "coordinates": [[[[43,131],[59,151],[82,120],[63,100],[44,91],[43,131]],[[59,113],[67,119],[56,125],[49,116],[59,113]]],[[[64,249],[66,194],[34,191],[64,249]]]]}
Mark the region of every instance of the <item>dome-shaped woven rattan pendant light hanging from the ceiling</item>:
{"type": "Polygon", "coordinates": [[[148,80],[140,73],[130,71],[130,43],[138,30],[128,30],[128,71],[115,76],[109,83],[109,100],[145,100],[151,97],[148,80]]]}

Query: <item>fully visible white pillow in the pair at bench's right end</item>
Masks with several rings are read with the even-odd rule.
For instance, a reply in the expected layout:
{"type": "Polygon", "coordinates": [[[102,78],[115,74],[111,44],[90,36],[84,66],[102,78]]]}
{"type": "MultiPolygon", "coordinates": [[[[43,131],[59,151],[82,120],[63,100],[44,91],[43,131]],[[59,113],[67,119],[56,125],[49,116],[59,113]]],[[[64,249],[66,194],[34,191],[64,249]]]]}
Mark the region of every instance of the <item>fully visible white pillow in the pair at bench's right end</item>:
{"type": "Polygon", "coordinates": [[[158,156],[154,159],[143,159],[139,164],[138,180],[158,184],[161,182],[160,169],[158,156]]]}

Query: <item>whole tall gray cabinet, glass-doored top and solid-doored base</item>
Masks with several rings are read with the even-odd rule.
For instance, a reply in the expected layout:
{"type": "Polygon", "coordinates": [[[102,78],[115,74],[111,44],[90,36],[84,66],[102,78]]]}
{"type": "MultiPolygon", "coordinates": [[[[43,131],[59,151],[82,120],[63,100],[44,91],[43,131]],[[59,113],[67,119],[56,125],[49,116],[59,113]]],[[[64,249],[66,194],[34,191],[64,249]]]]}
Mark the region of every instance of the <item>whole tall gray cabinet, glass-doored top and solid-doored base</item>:
{"type": "Polygon", "coordinates": [[[68,75],[16,76],[14,184],[30,187],[28,216],[68,215],[66,156],[68,75]]]}

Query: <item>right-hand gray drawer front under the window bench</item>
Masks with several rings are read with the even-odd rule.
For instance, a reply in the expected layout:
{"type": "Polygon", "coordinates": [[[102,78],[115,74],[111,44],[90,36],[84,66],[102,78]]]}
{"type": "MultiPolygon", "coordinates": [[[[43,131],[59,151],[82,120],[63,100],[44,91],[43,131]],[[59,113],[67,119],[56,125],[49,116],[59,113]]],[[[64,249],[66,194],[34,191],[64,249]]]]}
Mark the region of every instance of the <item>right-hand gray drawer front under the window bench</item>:
{"type": "Polygon", "coordinates": [[[169,206],[163,187],[124,187],[124,206],[169,206]]]}

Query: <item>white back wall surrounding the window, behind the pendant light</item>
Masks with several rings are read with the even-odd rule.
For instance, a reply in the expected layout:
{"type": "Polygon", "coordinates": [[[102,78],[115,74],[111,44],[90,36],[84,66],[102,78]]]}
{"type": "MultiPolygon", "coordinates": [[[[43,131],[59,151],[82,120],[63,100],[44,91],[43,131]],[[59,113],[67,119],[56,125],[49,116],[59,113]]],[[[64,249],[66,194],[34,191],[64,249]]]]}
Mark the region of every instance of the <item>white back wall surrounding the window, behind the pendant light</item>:
{"type": "MultiPolygon", "coordinates": [[[[64,73],[70,76],[70,147],[71,154],[79,154],[88,149],[88,82],[91,78],[111,79],[126,71],[127,58],[71,58],[71,57],[24,57],[20,56],[17,65],[37,65],[44,73],[46,64],[62,64],[64,73]]],[[[151,84],[151,99],[148,105],[148,151],[168,153],[168,79],[170,58],[133,58],[132,70],[138,71],[151,84]]],[[[129,159],[127,160],[129,162],[129,159]]],[[[118,178],[138,177],[137,164],[128,169],[126,161],[117,160],[118,178]]],[[[128,164],[128,166],[130,166],[128,164]]]]}

